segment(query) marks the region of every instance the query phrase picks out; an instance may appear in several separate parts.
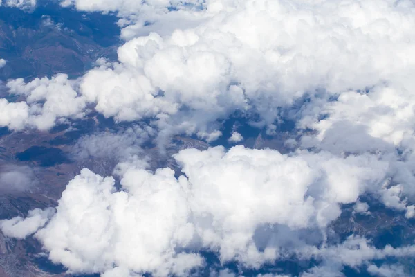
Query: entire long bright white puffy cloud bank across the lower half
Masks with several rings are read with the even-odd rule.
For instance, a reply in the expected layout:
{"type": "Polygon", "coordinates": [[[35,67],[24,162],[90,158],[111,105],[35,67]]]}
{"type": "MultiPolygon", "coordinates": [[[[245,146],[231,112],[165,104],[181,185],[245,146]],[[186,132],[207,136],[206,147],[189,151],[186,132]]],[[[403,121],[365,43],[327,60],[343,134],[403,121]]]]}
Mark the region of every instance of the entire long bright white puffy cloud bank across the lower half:
{"type": "MultiPolygon", "coordinates": [[[[121,190],[113,177],[82,170],[62,193],[50,222],[35,234],[50,260],[73,272],[104,276],[188,274],[204,265],[201,249],[218,253],[221,262],[255,268],[287,253],[337,255],[347,265],[358,263],[343,261],[348,256],[335,253],[338,249],[315,245],[325,241],[340,204],[356,202],[369,187],[382,185],[382,161],[243,146],[228,152],[187,149],[175,159],[180,177],[169,168],[150,172],[142,164],[125,163],[118,170],[121,190]]],[[[375,258],[377,250],[367,247],[371,254],[361,260],[375,258]]]]}

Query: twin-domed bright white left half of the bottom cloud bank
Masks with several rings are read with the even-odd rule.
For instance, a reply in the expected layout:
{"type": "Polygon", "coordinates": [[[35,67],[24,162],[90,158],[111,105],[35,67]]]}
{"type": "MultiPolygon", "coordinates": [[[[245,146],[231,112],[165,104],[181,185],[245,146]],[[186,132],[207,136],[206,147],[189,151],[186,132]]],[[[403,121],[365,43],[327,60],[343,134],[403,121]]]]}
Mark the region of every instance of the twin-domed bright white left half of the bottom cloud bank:
{"type": "Polygon", "coordinates": [[[189,244],[193,232],[181,183],[173,170],[151,175],[136,169],[122,179],[127,191],[116,192],[112,177],[84,169],[36,237],[50,251],[50,260],[71,271],[112,271],[115,264],[156,276],[183,274],[201,265],[201,258],[174,251],[189,244]]]}

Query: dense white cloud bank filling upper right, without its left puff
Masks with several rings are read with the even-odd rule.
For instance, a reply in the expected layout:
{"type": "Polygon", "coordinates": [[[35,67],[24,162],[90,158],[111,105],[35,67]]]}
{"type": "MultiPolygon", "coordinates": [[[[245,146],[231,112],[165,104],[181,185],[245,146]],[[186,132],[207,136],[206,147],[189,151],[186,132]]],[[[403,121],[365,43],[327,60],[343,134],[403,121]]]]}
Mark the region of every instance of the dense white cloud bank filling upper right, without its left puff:
{"type": "MultiPolygon", "coordinates": [[[[95,10],[104,9],[102,3],[95,10]]],[[[248,108],[248,101],[268,125],[277,107],[306,92],[338,93],[386,80],[400,84],[405,81],[400,73],[414,69],[407,37],[413,36],[415,17],[400,6],[389,1],[292,3],[207,1],[204,10],[193,12],[201,19],[196,26],[178,22],[171,33],[131,39],[119,49],[119,60],[143,72],[167,100],[209,112],[211,120],[248,108]],[[232,83],[238,84],[236,91],[228,91],[232,83]]],[[[136,11],[129,1],[118,4],[136,11]]],[[[186,12],[192,13],[178,13],[186,12]]],[[[156,19],[155,30],[163,18],[156,19]]],[[[199,127],[206,123],[196,122],[199,127]]]]}

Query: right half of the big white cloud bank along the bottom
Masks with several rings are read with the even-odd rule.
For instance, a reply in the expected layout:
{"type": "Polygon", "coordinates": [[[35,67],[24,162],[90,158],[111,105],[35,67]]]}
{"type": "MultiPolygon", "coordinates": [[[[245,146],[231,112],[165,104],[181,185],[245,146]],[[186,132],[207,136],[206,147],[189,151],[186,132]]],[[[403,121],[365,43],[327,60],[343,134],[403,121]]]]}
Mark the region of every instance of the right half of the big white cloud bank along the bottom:
{"type": "Polygon", "coordinates": [[[286,156],[237,146],[227,153],[183,150],[175,157],[190,181],[194,216],[201,224],[212,222],[208,228],[196,225],[203,245],[218,245],[221,260],[237,258],[251,266],[275,258],[282,246],[258,253],[253,234],[259,226],[324,229],[340,215],[338,204],[356,202],[385,174],[385,164],[373,157],[329,153],[286,156]]]}

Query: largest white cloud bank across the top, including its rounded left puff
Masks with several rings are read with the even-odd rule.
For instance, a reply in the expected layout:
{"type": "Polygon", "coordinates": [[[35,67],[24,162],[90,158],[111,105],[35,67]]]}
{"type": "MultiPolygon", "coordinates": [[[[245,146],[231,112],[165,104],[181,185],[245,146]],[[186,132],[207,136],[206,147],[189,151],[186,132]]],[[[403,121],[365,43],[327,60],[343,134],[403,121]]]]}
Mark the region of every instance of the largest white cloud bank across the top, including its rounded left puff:
{"type": "MultiPolygon", "coordinates": [[[[130,22],[123,29],[130,35],[118,49],[119,61],[102,62],[75,88],[95,109],[117,120],[151,118],[167,134],[188,132],[205,138],[217,131],[211,125],[215,120],[235,110],[259,114],[260,122],[272,128],[279,107],[310,93],[326,91],[329,97],[348,89],[382,90],[388,84],[399,90],[400,101],[409,100],[405,87],[410,89],[407,82],[414,69],[412,1],[64,3],[80,10],[120,12],[130,22]]],[[[360,106],[387,100],[366,97],[360,106]]],[[[390,105],[398,107],[396,101],[390,105]]],[[[398,118],[409,116],[409,106],[398,118]]],[[[73,107],[82,108],[75,103],[73,107]]],[[[336,114],[342,110],[333,109],[336,114]]],[[[381,120],[367,116],[365,124],[381,120]]],[[[384,124],[402,132],[402,125],[384,124]]],[[[403,135],[391,134],[387,126],[370,132],[389,141],[403,135]]]]}

